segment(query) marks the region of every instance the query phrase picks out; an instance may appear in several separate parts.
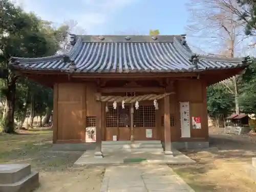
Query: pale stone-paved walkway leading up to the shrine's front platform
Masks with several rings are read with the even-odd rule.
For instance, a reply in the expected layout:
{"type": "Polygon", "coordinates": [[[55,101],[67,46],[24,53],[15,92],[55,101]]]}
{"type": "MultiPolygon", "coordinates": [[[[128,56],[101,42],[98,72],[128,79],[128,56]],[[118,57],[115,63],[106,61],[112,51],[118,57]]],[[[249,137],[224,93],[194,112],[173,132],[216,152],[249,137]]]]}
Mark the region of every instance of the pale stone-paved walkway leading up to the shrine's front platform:
{"type": "Polygon", "coordinates": [[[157,164],[107,167],[100,192],[195,192],[172,168],[157,164]]]}

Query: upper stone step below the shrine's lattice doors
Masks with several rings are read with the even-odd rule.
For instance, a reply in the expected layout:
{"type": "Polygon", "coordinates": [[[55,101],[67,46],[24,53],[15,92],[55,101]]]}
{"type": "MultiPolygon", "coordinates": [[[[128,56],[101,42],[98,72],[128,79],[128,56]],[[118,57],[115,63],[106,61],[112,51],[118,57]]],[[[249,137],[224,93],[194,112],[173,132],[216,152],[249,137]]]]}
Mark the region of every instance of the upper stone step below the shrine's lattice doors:
{"type": "Polygon", "coordinates": [[[162,144],[102,144],[102,148],[162,148],[162,144]]]}

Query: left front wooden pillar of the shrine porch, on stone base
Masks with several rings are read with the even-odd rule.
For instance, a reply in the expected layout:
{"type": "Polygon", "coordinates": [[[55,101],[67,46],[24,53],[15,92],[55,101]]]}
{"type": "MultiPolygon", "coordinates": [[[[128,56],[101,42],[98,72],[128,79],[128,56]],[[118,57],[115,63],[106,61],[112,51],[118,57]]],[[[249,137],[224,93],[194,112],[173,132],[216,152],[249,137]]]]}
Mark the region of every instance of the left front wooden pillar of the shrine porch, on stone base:
{"type": "Polygon", "coordinates": [[[96,151],[95,158],[102,158],[101,152],[101,101],[96,100],[96,151]]]}

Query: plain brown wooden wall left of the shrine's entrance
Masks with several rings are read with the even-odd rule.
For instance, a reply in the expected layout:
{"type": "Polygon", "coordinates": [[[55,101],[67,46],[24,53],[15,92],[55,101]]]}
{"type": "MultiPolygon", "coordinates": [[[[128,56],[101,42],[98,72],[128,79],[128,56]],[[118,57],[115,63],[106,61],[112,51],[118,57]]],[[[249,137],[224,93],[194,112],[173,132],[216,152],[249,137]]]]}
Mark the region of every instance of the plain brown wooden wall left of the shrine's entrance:
{"type": "Polygon", "coordinates": [[[95,88],[84,83],[55,84],[54,143],[85,142],[86,116],[96,116],[95,88]]]}

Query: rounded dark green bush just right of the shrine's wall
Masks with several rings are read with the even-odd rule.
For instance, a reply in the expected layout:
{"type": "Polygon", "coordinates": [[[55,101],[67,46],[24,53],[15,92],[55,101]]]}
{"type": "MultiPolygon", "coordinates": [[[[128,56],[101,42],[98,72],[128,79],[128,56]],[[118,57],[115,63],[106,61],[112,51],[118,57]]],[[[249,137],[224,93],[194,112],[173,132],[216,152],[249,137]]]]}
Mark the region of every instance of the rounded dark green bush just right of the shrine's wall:
{"type": "Polygon", "coordinates": [[[207,110],[212,117],[226,116],[233,110],[234,96],[222,83],[207,88],[207,110]]]}

